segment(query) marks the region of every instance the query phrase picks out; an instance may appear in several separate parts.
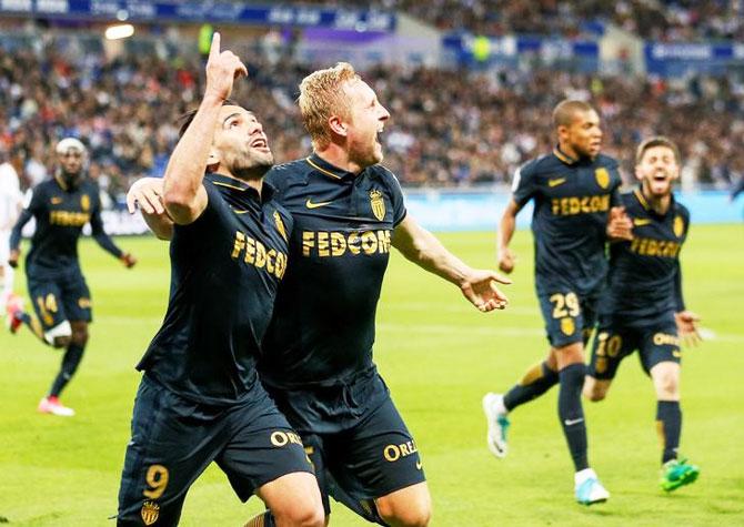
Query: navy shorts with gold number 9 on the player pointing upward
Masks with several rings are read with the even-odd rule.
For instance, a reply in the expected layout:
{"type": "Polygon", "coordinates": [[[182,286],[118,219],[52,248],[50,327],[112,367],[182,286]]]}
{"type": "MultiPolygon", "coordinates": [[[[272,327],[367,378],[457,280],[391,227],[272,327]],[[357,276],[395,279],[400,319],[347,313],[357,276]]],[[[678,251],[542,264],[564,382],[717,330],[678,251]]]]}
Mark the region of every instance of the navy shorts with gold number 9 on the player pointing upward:
{"type": "Polygon", "coordinates": [[[189,487],[215,462],[245,501],[262,485],[312,473],[300,436],[261,388],[233,406],[194,403],[147,375],[134,401],[118,525],[178,525],[189,487]]]}

